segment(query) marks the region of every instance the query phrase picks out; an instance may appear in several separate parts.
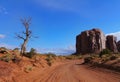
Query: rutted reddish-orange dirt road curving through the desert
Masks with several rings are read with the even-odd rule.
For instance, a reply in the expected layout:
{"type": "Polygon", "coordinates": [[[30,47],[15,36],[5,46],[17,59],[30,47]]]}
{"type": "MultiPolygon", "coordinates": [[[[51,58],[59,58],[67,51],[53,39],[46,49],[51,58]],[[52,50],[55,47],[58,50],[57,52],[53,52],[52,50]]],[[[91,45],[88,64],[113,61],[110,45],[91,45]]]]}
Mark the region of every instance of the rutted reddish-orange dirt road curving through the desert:
{"type": "Polygon", "coordinates": [[[81,61],[73,60],[49,68],[37,68],[16,75],[13,82],[120,82],[120,73],[80,64],[81,61]]]}

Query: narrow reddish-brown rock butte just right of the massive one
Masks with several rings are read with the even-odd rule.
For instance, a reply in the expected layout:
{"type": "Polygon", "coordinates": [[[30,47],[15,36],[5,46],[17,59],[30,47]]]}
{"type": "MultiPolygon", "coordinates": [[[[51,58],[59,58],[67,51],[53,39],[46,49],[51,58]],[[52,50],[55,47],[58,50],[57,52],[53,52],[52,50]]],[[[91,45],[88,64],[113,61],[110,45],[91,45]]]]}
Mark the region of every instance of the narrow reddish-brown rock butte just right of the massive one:
{"type": "Polygon", "coordinates": [[[116,41],[117,41],[116,37],[114,37],[113,35],[108,35],[106,37],[106,48],[111,50],[114,53],[117,53],[118,49],[117,49],[117,42],[116,41]]]}

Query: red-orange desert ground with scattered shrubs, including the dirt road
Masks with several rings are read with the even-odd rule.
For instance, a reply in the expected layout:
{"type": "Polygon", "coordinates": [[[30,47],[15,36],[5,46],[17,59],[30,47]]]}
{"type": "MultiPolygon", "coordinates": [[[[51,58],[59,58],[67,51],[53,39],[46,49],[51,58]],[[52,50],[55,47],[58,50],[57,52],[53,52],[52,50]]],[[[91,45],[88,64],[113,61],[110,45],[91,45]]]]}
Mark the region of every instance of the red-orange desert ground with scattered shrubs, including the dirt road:
{"type": "Polygon", "coordinates": [[[21,57],[14,50],[0,54],[0,82],[120,82],[119,68],[119,54],[21,57]]]}

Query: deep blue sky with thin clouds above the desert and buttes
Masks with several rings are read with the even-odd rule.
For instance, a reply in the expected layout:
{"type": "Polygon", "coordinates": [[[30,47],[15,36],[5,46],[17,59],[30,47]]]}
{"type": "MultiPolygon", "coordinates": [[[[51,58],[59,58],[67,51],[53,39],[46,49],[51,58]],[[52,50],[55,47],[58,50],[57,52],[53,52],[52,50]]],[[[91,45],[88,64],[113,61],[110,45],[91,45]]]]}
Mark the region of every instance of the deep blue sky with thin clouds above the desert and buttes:
{"type": "Polygon", "coordinates": [[[24,30],[20,18],[32,17],[28,49],[69,54],[81,31],[100,28],[120,36],[120,0],[0,0],[0,46],[20,47],[15,33],[24,30]]]}

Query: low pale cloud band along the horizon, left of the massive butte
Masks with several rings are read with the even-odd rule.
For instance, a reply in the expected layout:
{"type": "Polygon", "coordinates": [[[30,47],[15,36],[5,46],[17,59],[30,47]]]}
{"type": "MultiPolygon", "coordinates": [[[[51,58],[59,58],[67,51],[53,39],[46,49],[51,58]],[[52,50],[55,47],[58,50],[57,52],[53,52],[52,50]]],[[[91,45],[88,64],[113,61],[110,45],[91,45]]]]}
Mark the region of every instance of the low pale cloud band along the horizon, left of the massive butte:
{"type": "Polygon", "coordinates": [[[69,46],[67,48],[39,48],[37,49],[40,53],[54,53],[57,55],[69,55],[75,52],[74,46],[69,46]]]}

